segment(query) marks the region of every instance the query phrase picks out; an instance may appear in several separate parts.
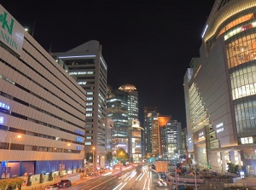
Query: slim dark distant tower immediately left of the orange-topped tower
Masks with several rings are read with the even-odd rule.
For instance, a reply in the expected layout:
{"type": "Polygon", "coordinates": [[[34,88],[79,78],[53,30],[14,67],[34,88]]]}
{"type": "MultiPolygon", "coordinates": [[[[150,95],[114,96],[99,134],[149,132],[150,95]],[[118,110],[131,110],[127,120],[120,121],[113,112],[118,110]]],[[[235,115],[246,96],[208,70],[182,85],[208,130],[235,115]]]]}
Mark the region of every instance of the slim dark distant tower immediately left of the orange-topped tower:
{"type": "Polygon", "coordinates": [[[144,133],[143,133],[143,155],[153,156],[152,128],[157,123],[157,107],[144,107],[144,133]]]}

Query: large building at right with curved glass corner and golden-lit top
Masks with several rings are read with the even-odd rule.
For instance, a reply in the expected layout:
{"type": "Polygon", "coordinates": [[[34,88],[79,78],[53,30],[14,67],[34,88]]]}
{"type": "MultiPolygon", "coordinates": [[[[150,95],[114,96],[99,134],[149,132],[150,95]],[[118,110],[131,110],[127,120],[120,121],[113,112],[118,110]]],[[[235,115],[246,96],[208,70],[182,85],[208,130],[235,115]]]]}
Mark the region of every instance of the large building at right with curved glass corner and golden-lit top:
{"type": "Polygon", "coordinates": [[[184,77],[189,154],[256,174],[256,2],[216,1],[184,77]]]}

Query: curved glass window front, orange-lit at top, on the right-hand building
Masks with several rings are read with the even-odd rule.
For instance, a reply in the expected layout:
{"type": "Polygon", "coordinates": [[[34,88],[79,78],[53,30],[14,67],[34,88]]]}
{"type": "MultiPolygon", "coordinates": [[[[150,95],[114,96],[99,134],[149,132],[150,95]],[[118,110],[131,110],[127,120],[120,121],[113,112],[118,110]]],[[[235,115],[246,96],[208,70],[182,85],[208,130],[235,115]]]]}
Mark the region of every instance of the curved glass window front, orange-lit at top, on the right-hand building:
{"type": "Polygon", "coordinates": [[[256,132],[256,30],[239,33],[226,43],[236,130],[243,136],[256,132]]]}

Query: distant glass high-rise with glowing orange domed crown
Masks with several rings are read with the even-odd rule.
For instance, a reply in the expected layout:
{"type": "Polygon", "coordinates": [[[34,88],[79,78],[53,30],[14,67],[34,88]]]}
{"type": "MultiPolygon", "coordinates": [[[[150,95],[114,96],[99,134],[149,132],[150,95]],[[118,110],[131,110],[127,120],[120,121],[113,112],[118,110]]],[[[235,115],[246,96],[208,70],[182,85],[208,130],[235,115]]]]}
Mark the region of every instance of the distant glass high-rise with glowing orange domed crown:
{"type": "Polygon", "coordinates": [[[138,95],[134,85],[124,84],[119,89],[108,87],[107,115],[113,119],[112,151],[122,147],[128,153],[128,121],[138,119],[138,95]]]}

